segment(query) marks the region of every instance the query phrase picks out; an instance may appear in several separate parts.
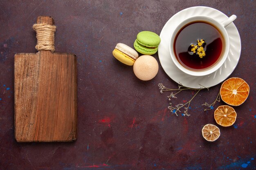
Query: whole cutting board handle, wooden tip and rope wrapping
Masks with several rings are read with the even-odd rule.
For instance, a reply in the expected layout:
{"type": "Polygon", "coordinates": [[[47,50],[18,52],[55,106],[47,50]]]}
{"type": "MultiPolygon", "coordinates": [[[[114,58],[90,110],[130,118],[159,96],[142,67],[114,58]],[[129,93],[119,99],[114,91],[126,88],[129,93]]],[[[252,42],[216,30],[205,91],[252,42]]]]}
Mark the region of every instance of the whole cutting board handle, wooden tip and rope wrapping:
{"type": "Polygon", "coordinates": [[[54,33],[56,31],[54,19],[50,16],[39,16],[36,22],[37,24],[33,25],[37,38],[36,49],[38,51],[54,52],[54,33]]]}

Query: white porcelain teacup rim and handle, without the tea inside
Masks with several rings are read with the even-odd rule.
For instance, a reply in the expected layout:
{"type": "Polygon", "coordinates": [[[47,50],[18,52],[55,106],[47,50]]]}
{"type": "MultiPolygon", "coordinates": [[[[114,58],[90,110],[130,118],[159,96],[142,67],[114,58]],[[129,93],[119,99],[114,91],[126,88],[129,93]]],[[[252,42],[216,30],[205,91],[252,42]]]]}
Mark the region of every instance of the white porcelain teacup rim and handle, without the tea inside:
{"type": "MultiPolygon", "coordinates": [[[[193,75],[193,76],[209,75],[209,74],[213,73],[214,71],[218,70],[218,68],[220,68],[220,66],[222,66],[222,64],[224,64],[225,60],[227,59],[227,55],[229,53],[229,35],[228,35],[225,27],[228,26],[235,19],[236,19],[236,15],[231,15],[227,20],[220,23],[217,20],[214,20],[213,18],[209,18],[209,17],[203,16],[203,15],[197,15],[197,16],[193,16],[193,17],[187,18],[186,20],[182,21],[173,30],[173,33],[171,34],[171,38],[170,38],[170,42],[169,42],[169,50],[170,50],[171,58],[172,58],[174,64],[184,73],[193,75]],[[195,21],[204,21],[204,22],[211,23],[218,29],[218,31],[220,32],[220,34],[222,35],[222,38],[224,40],[224,42],[223,42],[224,48],[222,49],[222,54],[219,57],[219,60],[217,61],[217,63],[213,64],[212,66],[209,66],[209,68],[198,70],[198,71],[189,70],[188,68],[185,68],[184,66],[182,66],[182,64],[180,64],[180,62],[177,60],[177,57],[175,56],[174,49],[173,49],[175,37],[176,37],[177,33],[180,31],[180,29],[182,29],[182,27],[185,26],[186,24],[189,24],[189,23],[195,22],[195,21]]],[[[207,51],[206,51],[206,53],[207,53],[207,51]]]]}

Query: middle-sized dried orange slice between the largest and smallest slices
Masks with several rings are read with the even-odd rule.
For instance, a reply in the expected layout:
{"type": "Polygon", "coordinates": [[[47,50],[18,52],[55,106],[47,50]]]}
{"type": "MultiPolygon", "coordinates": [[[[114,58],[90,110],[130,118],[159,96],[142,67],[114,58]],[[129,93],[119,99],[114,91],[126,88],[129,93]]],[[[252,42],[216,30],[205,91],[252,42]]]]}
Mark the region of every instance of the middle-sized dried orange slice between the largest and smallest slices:
{"type": "Polygon", "coordinates": [[[232,126],[236,121],[236,111],[231,106],[219,106],[214,112],[214,119],[221,126],[232,126]]]}

